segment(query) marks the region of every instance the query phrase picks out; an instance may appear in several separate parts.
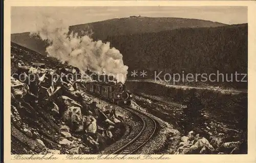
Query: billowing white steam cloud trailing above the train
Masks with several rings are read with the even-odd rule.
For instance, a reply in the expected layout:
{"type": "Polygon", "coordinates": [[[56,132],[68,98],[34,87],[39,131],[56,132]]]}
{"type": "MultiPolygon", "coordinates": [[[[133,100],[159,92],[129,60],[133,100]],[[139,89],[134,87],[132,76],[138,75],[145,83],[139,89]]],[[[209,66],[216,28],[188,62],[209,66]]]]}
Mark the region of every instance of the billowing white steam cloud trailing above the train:
{"type": "Polygon", "coordinates": [[[38,35],[50,43],[46,48],[50,56],[83,71],[88,68],[99,74],[114,76],[118,82],[125,82],[128,67],[123,64],[122,54],[110,48],[110,42],[93,41],[90,33],[82,37],[73,32],[68,34],[69,26],[51,17],[43,17],[36,26],[37,30],[31,35],[38,35]]]}

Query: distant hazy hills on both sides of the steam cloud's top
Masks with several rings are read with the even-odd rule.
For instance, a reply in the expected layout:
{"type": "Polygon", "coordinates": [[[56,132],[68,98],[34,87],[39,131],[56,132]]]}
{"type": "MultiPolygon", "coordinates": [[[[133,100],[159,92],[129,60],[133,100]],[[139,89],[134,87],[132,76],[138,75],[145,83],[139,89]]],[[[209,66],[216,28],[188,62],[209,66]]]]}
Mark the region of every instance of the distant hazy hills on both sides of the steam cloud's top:
{"type": "MultiPolygon", "coordinates": [[[[224,26],[219,22],[207,20],[172,18],[172,17],[136,17],[118,18],[89,24],[71,26],[70,30],[82,35],[81,31],[92,29],[93,38],[105,40],[113,35],[130,35],[135,33],[160,32],[178,28],[218,27],[224,26]]],[[[31,50],[45,53],[46,43],[39,38],[30,37],[29,32],[11,35],[11,41],[26,46],[31,50]]]]}

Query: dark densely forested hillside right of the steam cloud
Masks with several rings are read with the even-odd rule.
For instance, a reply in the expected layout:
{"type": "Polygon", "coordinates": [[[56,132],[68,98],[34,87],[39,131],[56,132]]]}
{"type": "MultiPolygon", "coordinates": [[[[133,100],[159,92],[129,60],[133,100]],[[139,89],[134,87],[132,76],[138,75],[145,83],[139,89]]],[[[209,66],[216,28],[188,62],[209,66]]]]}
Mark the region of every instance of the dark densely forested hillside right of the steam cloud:
{"type": "MultiPolygon", "coordinates": [[[[112,36],[108,41],[123,54],[130,71],[151,71],[148,74],[153,76],[155,70],[208,75],[219,71],[228,74],[228,80],[233,74],[234,80],[236,72],[247,73],[247,38],[248,25],[242,24],[112,36]]],[[[219,81],[221,85],[247,88],[247,82],[219,81]]]]}

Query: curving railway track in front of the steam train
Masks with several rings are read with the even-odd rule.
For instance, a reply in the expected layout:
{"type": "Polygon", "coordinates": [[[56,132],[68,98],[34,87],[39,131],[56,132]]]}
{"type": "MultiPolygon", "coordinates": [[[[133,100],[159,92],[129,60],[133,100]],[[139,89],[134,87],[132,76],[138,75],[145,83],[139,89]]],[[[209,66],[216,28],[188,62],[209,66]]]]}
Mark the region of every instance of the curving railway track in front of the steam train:
{"type": "Polygon", "coordinates": [[[136,151],[143,147],[143,145],[146,144],[150,138],[152,138],[157,129],[157,122],[150,116],[130,107],[124,107],[124,109],[138,115],[143,123],[143,126],[139,132],[137,131],[138,133],[135,137],[111,154],[136,154],[136,151]]]}

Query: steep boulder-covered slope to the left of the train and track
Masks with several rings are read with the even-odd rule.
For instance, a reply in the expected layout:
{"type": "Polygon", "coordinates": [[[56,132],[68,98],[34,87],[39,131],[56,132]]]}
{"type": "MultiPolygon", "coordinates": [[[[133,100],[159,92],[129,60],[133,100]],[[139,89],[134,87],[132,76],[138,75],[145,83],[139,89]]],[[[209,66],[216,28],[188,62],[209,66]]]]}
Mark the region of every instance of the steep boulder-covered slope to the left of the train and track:
{"type": "Polygon", "coordinates": [[[114,109],[83,95],[90,77],[73,83],[52,79],[53,74],[60,75],[59,68],[72,73],[72,67],[16,44],[12,49],[12,154],[92,154],[123,134],[122,118],[115,117],[114,109]],[[38,61],[51,68],[29,66],[38,61]]]}

